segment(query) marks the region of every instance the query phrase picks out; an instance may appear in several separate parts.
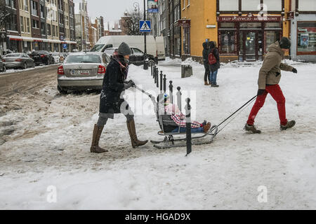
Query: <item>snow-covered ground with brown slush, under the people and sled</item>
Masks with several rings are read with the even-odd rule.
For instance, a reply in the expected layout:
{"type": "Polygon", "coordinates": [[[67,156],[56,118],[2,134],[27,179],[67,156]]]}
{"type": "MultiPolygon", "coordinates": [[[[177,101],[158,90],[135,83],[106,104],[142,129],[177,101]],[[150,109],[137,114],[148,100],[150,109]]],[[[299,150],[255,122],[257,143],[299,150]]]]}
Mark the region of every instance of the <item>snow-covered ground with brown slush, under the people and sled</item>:
{"type": "MultiPolygon", "coordinates": [[[[57,75],[41,89],[0,97],[0,209],[316,209],[316,64],[286,62],[298,70],[283,71],[279,84],[293,129],[279,130],[268,95],[256,118],[262,134],[243,130],[251,104],[212,144],[192,146],[187,157],[185,148],[131,148],[121,114],[100,139],[109,152],[90,153],[99,94],[60,95],[57,75]],[[268,190],[266,202],[258,201],[260,186],[268,190]]],[[[223,64],[218,88],[204,86],[204,66],[186,63],[190,78],[180,78],[180,60],[158,66],[174,92],[181,87],[183,107],[190,96],[196,120],[218,124],[258,90],[262,62],[223,64]]],[[[129,78],[158,93],[150,70],[131,65],[129,78]]],[[[161,139],[148,97],[131,88],[126,100],[139,139],[161,139]]]]}

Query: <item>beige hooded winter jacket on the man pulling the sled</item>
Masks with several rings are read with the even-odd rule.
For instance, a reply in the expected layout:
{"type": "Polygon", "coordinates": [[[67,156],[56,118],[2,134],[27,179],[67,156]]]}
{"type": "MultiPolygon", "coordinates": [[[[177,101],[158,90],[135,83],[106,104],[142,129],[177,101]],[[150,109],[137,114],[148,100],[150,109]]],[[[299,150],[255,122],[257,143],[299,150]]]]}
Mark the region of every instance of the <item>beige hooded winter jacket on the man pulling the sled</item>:
{"type": "Polygon", "coordinates": [[[281,62],[283,58],[284,52],[279,47],[279,42],[272,43],[269,46],[268,54],[265,56],[265,60],[259,71],[259,90],[265,90],[265,85],[279,84],[281,70],[292,71],[292,66],[281,62]]]}

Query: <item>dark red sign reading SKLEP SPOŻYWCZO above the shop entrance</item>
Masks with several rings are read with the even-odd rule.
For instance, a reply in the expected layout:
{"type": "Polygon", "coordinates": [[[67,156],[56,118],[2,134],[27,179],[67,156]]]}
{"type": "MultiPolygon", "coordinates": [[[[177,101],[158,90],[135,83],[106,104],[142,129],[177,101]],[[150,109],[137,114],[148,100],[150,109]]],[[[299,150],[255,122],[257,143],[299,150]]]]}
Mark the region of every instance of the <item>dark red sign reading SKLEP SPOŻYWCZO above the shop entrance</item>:
{"type": "Polygon", "coordinates": [[[218,16],[217,22],[282,22],[281,16],[218,16]]]}

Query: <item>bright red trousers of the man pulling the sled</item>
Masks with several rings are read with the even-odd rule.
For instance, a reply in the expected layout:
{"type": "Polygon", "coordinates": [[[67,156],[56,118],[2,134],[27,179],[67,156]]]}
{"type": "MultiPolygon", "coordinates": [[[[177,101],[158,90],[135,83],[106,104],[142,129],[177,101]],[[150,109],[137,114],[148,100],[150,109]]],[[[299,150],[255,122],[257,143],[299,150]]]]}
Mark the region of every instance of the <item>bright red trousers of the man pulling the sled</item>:
{"type": "Polygon", "coordinates": [[[267,85],[265,86],[265,92],[257,97],[256,103],[251,109],[249,118],[247,120],[248,125],[254,125],[254,119],[257,113],[265,104],[265,97],[270,93],[271,97],[277,102],[277,111],[279,111],[279,120],[281,125],[287,125],[287,116],[285,113],[285,98],[279,85],[267,85]]]}

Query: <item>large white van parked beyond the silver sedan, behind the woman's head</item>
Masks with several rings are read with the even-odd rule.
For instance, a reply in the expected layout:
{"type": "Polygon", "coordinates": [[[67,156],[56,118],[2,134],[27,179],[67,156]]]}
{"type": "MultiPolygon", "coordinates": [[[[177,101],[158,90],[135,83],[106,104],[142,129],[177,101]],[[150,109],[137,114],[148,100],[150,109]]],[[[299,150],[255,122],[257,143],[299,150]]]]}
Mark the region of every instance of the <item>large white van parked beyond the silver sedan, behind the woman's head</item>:
{"type": "MultiPolygon", "coordinates": [[[[104,52],[107,48],[118,48],[122,42],[145,52],[144,36],[103,36],[91,51],[104,52]]],[[[154,36],[146,36],[146,49],[147,54],[154,56],[157,62],[157,45],[154,36]]]]}

